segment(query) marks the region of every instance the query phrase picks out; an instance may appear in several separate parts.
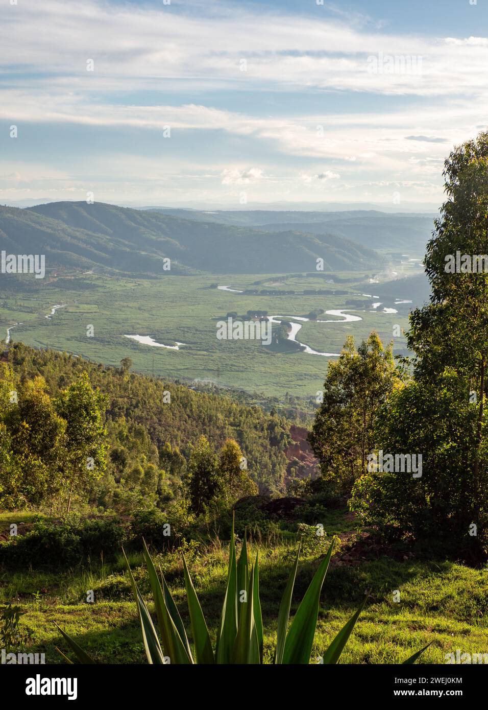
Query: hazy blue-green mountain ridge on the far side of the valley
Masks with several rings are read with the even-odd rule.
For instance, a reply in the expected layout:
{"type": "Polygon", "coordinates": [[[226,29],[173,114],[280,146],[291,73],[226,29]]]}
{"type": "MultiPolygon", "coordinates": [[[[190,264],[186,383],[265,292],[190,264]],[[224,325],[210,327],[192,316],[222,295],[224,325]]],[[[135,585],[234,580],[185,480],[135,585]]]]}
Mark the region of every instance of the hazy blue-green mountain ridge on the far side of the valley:
{"type": "Polygon", "coordinates": [[[317,213],[215,214],[86,202],[50,202],[27,209],[0,207],[0,249],[44,253],[47,268],[139,274],[162,273],[165,257],[171,259],[171,273],[314,271],[319,257],[325,271],[376,271],[382,264],[375,251],[347,234],[336,234],[332,227],[317,229],[322,222],[308,221],[309,214],[317,213]],[[260,217],[255,217],[257,214],[260,217]],[[296,214],[301,222],[289,217],[296,214]]]}

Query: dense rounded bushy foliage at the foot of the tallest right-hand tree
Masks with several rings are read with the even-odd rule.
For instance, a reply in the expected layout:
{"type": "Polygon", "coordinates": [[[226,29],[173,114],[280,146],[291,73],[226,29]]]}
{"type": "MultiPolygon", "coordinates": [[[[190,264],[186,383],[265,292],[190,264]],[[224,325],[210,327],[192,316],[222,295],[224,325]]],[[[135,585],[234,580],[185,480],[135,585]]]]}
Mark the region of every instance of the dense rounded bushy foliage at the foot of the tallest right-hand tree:
{"type": "MultiPolygon", "coordinates": [[[[377,440],[384,452],[423,453],[423,474],[371,471],[355,484],[351,509],[388,537],[440,539],[446,553],[476,557],[479,545],[488,544],[486,508],[479,510],[472,485],[476,433],[477,408],[453,371],[435,383],[410,382],[383,408],[377,440]],[[473,522],[479,527],[475,536],[473,522]]],[[[488,441],[482,444],[486,457],[488,441]]]]}

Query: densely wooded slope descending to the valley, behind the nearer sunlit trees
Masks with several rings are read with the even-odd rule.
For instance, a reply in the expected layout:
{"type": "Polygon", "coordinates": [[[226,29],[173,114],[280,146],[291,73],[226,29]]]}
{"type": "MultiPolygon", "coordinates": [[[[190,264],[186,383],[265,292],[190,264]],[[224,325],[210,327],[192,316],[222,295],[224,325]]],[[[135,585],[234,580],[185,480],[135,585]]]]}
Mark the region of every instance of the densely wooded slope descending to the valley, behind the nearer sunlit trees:
{"type": "Polygon", "coordinates": [[[37,350],[21,343],[9,350],[9,363],[19,378],[43,376],[48,391],[57,395],[86,372],[93,386],[107,396],[106,422],[109,450],[121,446],[117,422],[124,422],[128,434],[127,454],[138,443],[148,461],[155,447],[179,447],[188,457],[190,444],[204,434],[215,447],[228,438],[235,439],[248,459],[249,471],[262,492],[282,491],[288,460],[285,455],[292,442],[289,421],[269,415],[260,407],[250,407],[226,396],[194,391],[177,382],[165,381],[121,368],[104,367],[66,353],[37,350]],[[170,403],[165,393],[170,392],[170,403]],[[132,440],[131,440],[132,439],[132,440]]]}

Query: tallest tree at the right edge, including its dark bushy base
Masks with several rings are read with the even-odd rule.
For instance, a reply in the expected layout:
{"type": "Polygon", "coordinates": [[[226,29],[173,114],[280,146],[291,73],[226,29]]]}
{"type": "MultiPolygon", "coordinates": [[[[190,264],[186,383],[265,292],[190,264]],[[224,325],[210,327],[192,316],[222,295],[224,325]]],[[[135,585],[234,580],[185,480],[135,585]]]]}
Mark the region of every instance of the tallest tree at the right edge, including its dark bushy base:
{"type": "Polygon", "coordinates": [[[424,262],[431,302],[410,315],[414,379],[390,396],[374,442],[422,454],[423,475],[367,473],[351,505],[389,535],[440,540],[479,563],[488,557],[488,271],[449,263],[488,252],[488,133],[455,148],[443,175],[448,199],[424,262]]]}

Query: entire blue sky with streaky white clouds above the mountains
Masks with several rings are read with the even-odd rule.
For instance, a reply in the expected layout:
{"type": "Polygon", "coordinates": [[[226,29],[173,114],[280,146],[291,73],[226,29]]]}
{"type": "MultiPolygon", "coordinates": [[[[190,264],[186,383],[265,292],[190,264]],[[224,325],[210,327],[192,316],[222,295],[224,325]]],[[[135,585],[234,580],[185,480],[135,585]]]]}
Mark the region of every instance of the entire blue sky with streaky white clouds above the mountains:
{"type": "Polygon", "coordinates": [[[488,0],[2,0],[0,203],[431,211],[488,0]]]}

